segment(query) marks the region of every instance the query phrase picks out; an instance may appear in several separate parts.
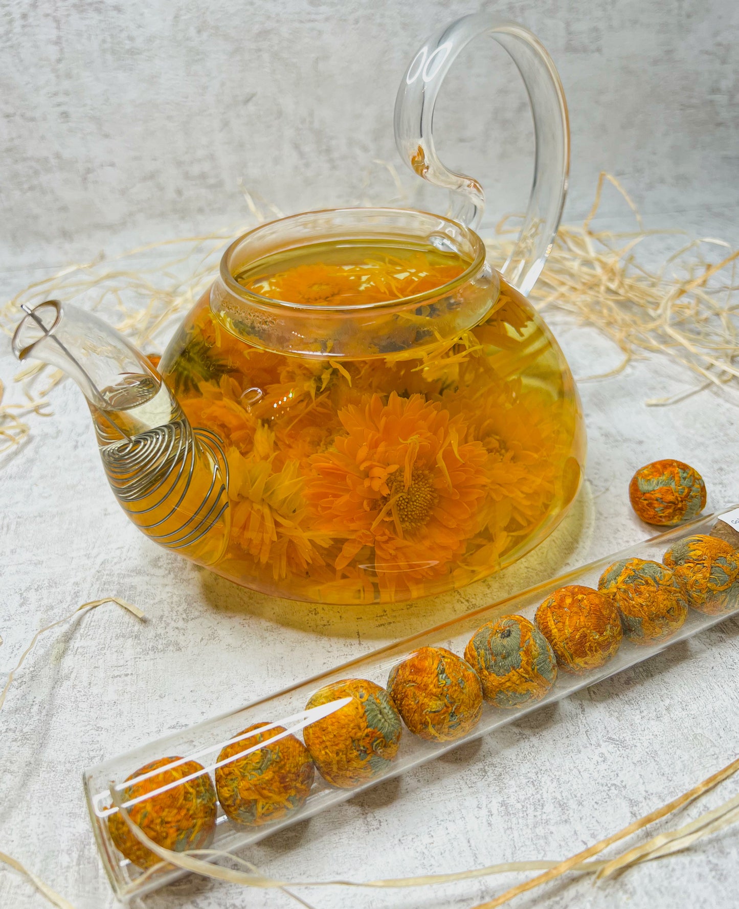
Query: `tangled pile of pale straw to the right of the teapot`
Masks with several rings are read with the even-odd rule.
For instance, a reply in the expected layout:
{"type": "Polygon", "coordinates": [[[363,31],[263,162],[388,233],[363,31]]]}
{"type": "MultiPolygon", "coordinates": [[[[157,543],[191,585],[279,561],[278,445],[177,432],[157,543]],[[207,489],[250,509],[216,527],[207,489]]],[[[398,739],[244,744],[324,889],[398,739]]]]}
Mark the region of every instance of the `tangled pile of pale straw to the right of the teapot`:
{"type": "MultiPolygon", "coordinates": [[[[504,238],[512,233],[508,220],[499,223],[496,235],[487,241],[491,255],[501,260],[513,247],[513,240],[504,238]]],[[[603,172],[598,178],[594,205],[583,225],[560,228],[544,271],[531,292],[532,302],[540,310],[555,309],[583,324],[594,325],[624,354],[614,369],[581,377],[580,381],[616,375],[644,354],[667,355],[698,375],[701,381],[691,393],[712,385],[723,389],[736,375],[739,308],[731,303],[738,289],[739,250],[725,255],[718,263],[707,262],[700,253],[702,246],[731,246],[714,237],[702,237],[683,245],[656,270],[645,268],[634,258],[637,245],[647,237],[681,233],[684,232],[645,231],[624,187],[603,172]],[[594,230],[592,222],[606,182],[614,186],[634,212],[636,234],[594,230]],[[677,274],[676,270],[684,274],[677,274]],[[711,279],[724,270],[731,271],[729,283],[709,290],[711,279]],[[722,293],[724,300],[718,297],[722,293]]],[[[683,397],[665,395],[645,403],[667,405],[683,397]]]]}

